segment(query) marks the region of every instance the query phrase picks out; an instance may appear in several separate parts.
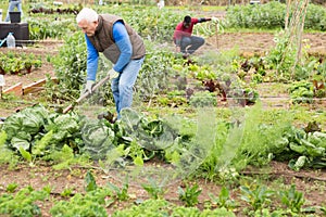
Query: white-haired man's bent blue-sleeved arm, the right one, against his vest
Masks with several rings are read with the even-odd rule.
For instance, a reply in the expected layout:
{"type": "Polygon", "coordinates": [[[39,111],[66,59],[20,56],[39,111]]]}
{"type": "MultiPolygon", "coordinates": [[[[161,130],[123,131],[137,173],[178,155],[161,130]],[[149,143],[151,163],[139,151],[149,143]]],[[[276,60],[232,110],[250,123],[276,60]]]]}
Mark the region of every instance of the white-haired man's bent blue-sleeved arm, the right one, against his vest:
{"type": "Polygon", "coordinates": [[[133,46],[125,25],[122,22],[116,22],[113,25],[113,39],[121,51],[121,54],[113,67],[115,72],[121,73],[129,63],[133,55],[133,46]]]}

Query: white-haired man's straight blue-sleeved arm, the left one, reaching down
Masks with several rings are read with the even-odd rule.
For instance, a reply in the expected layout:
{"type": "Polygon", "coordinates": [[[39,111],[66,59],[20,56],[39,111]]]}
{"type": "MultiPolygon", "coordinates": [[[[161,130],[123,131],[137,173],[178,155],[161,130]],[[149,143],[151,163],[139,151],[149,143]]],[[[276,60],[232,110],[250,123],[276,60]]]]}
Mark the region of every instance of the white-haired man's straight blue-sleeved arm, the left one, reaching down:
{"type": "Polygon", "coordinates": [[[87,80],[96,80],[99,62],[99,52],[90,42],[86,34],[85,39],[87,46],[87,80]]]}

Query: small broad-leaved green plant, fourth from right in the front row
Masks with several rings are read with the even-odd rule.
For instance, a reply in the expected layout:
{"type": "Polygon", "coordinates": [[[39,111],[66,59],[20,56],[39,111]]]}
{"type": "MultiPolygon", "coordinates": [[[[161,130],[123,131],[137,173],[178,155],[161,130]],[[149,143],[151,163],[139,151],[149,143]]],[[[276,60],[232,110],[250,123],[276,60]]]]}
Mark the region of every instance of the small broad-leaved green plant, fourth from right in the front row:
{"type": "Polygon", "coordinates": [[[178,187],[179,200],[186,203],[186,206],[195,206],[199,203],[198,196],[201,194],[201,189],[196,183],[192,187],[186,186],[186,189],[178,187]]]}

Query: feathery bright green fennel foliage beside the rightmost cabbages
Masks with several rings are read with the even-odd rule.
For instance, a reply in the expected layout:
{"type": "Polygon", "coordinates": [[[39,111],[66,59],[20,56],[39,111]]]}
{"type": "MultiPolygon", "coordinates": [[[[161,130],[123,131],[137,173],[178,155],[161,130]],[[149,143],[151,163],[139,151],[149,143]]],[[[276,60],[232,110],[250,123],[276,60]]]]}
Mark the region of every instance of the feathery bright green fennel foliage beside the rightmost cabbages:
{"type": "Polygon", "coordinates": [[[274,120],[266,122],[266,112],[262,110],[261,103],[246,111],[246,119],[241,123],[242,139],[233,164],[237,168],[247,165],[266,165],[269,155],[279,153],[286,149],[281,142],[283,135],[291,125],[289,113],[273,113],[274,120]]]}

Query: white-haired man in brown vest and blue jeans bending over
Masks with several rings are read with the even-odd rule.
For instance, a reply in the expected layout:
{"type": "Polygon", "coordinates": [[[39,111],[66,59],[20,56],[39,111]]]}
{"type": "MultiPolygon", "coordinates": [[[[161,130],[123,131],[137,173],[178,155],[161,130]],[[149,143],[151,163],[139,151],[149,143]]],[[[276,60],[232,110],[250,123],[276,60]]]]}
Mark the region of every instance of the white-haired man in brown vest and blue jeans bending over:
{"type": "Polygon", "coordinates": [[[133,104],[133,88],[146,54],[143,41],[122,17],[113,14],[98,14],[92,9],[84,8],[76,21],[87,44],[86,90],[91,92],[99,52],[102,52],[114,64],[109,75],[120,119],[121,111],[133,104]]]}

